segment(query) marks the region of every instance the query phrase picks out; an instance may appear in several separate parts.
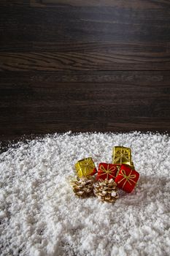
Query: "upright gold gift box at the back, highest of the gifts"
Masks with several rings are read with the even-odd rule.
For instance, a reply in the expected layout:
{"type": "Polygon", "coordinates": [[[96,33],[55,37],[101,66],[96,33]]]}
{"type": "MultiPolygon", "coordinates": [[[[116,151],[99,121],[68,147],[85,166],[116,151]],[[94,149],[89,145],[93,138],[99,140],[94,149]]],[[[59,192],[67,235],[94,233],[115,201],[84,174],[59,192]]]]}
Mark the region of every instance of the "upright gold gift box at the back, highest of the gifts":
{"type": "Polygon", "coordinates": [[[113,164],[116,165],[133,165],[131,161],[131,148],[115,146],[113,148],[113,164]]]}

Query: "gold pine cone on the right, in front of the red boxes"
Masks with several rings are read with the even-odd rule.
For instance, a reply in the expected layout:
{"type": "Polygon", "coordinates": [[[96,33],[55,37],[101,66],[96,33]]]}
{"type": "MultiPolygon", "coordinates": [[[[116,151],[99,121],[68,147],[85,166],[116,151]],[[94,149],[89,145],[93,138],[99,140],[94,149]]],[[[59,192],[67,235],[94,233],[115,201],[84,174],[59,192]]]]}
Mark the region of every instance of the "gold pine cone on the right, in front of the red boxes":
{"type": "Polygon", "coordinates": [[[103,202],[113,203],[118,198],[117,184],[112,178],[109,180],[99,179],[94,184],[93,192],[103,202]]]}

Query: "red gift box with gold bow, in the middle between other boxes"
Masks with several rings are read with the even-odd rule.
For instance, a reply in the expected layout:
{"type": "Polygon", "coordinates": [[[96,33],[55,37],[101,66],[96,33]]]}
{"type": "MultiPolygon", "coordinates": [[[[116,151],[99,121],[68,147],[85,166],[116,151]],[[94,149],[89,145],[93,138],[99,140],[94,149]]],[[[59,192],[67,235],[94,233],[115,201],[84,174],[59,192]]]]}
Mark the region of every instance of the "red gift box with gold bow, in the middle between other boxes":
{"type": "Polygon", "coordinates": [[[113,178],[115,180],[117,173],[117,166],[112,164],[106,164],[105,162],[101,162],[98,165],[98,174],[96,176],[97,180],[101,179],[110,179],[113,178]]]}

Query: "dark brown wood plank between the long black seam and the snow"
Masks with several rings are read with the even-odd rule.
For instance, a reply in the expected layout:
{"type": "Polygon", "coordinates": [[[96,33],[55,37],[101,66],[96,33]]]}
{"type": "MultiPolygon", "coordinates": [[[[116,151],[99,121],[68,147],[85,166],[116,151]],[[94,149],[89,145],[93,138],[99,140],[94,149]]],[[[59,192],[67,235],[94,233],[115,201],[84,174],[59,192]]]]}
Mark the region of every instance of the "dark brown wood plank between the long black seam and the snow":
{"type": "Polygon", "coordinates": [[[69,129],[170,132],[169,72],[1,75],[1,135],[69,129]]]}

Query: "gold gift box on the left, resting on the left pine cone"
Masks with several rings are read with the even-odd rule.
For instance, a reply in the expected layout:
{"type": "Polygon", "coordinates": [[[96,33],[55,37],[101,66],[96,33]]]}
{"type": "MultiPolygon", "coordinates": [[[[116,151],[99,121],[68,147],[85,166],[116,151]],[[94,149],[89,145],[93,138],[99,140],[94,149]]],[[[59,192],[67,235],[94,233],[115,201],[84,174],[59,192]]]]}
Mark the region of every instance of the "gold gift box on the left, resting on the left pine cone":
{"type": "Polygon", "coordinates": [[[96,166],[91,157],[78,161],[75,165],[77,176],[93,176],[97,172],[96,166]]]}

